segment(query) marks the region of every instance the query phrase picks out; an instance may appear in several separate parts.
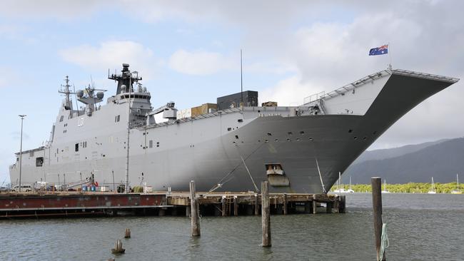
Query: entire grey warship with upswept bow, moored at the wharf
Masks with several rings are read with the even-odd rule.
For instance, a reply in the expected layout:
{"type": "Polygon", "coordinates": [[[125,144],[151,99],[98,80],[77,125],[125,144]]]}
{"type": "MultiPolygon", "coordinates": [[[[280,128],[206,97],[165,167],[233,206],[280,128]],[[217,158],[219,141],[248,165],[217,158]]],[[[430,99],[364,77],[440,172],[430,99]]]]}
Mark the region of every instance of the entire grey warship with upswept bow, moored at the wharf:
{"type": "MultiPolygon", "coordinates": [[[[105,105],[104,91],[71,93],[66,81],[49,140],[22,152],[21,184],[91,175],[118,184],[128,176],[131,186],[153,190],[188,190],[195,180],[200,191],[258,191],[268,180],[271,192],[326,193],[395,121],[458,81],[389,68],[308,96],[301,106],[241,103],[178,118],[173,102],[153,109],[128,64],[109,79],[117,88],[105,105]],[[84,107],[74,106],[73,94],[84,107]],[[165,121],[156,121],[159,114],[165,121]]],[[[11,183],[19,180],[19,158],[9,166],[11,183]]]]}

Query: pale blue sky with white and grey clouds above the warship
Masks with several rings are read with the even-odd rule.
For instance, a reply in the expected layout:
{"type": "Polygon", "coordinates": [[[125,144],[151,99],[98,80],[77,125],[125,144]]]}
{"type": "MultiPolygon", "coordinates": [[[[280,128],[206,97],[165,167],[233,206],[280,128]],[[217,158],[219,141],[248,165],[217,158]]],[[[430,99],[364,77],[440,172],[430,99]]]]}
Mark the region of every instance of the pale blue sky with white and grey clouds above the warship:
{"type": "MultiPolygon", "coordinates": [[[[49,138],[64,77],[114,95],[108,70],[143,77],[157,108],[178,109],[240,91],[296,106],[320,91],[387,68],[463,78],[464,1],[6,0],[0,9],[0,185],[23,148],[49,138]],[[368,56],[389,44],[389,55],[368,56]]],[[[400,96],[401,93],[398,93],[400,96]]],[[[370,150],[458,138],[462,81],[413,108],[370,150]]]]}

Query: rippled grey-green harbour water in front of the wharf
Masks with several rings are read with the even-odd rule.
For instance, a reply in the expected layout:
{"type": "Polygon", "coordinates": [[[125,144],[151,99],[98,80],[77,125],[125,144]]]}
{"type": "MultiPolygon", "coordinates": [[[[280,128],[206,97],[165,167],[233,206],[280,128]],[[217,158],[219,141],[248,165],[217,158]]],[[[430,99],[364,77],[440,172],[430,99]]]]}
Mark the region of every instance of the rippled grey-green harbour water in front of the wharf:
{"type": "MultiPolygon", "coordinates": [[[[388,260],[463,260],[464,195],[383,194],[388,260]]],[[[347,194],[347,213],[204,217],[201,237],[183,217],[1,220],[0,260],[375,260],[372,195],[347,194]],[[126,254],[111,248],[126,227],[126,254]]]]}

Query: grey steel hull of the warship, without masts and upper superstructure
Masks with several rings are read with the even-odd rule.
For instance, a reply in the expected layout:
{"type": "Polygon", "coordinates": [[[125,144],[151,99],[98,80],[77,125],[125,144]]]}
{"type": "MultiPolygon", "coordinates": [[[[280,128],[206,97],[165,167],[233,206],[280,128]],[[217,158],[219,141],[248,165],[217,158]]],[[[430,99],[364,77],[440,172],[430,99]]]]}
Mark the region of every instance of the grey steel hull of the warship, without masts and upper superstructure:
{"type": "MultiPolygon", "coordinates": [[[[326,115],[309,113],[311,106],[246,107],[133,128],[129,143],[130,185],[188,190],[189,181],[195,180],[197,190],[206,192],[258,191],[261,181],[269,180],[271,192],[326,193],[338,173],[343,173],[395,121],[452,83],[443,78],[393,73],[366,83],[372,85],[365,86],[367,91],[357,88],[361,97],[357,100],[352,98],[357,97],[354,89],[338,97],[340,101],[353,101],[355,113],[337,113],[337,108],[345,110],[340,104],[350,103],[332,98],[326,101],[326,109],[333,113],[326,115]],[[365,102],[365,97],[373,98],[365,102]],[[282,171],[270,174],[270,165],[278,165],[282,171]]],[[[100,113],[102,118],[109,117],[104,110],[100,113]]],[[[86,123],[94,134],[88,150],[66,154],[76,142],[71,140],[49,145],[26,159],[22,183],[69,183],[91,174],[110,188],[125,183],[127,131],[101,131],[92,126],[97,123],[98,118],[96,123],[86,123]],[[65,145],[66,150],[61,150],[65,145]],[[61,154],[56,155],[55,150],[61,154]],[[45,159],[41,167],[34,165],[37,155],[45,159]]],[[[18,164],[11,165],[10,175],[15,183],[18,164]]]]}

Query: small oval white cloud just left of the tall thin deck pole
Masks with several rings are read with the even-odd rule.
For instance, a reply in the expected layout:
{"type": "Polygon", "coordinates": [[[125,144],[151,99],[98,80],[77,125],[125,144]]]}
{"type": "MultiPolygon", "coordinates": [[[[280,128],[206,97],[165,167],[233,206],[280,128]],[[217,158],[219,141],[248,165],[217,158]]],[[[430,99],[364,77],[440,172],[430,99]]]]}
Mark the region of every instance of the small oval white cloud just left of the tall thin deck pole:
{"type": "Polygon", "coordinates": [[[208,51],[185,51],[173,53],[169,67],[174,71],[191,75],[206,75],[231,68],[231,59],[221,53],[208,51]]]}

